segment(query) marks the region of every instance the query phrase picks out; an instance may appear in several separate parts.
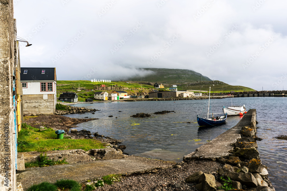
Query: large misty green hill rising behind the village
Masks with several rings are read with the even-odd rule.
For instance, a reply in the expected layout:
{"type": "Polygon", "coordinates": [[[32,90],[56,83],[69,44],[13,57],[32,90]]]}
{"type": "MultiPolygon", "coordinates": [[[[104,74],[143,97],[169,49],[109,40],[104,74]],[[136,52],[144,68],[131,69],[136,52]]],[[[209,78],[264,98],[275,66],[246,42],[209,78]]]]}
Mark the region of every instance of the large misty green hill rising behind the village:
{"type": "MultiPolygon", "coordinates": [[[[144,77],[129,78],[128,81],[146,81],[146,82],[158,82],[165,84],[177,84],[200,81],[200,73],[193,70],[182,69],[167,69],[167,68],[141,68],[143,70],[149,70],[153,73],[144,77]]],[[[206,76],[201,76],[201,81],[212,81],[206,76]]]]}

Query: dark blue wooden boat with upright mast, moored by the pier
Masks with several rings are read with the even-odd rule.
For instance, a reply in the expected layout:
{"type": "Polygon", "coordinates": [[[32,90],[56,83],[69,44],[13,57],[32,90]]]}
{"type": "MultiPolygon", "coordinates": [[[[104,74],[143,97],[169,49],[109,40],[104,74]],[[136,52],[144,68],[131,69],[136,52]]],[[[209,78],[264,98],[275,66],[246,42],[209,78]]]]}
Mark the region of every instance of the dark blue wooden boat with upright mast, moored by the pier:
{"type": "Polygon", "coordinates": [[[219,125],[225,122],[226,118],[227,118],[227,113],[225,113],[224,115],[220,115],[217,117],[214,117],[213,114],[219,114],[219,113],[209,113],[209,105],[210,105],[210,88],[209,87],[209,100],[208,100],[208,113],[207,113],[207,117],[206,118],[200,118],[197,115],[197,123],[199,126],[215,126],[215,125],[219,125]],[[209,118],[209,115],[212,115],[211,118],[209,118]]]}

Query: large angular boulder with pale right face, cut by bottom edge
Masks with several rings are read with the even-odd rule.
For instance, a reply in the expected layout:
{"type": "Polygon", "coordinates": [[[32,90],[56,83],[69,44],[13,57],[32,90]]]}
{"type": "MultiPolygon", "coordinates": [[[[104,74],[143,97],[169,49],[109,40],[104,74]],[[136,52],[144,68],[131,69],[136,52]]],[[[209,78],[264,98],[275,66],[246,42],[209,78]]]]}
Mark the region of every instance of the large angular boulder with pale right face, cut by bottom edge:
{"type": "Polygon", "coordinates": [[[198,190],[216,191],[215,178],[212,174],[203,173],[199,178],[199,184],[196,185],[198,190]]]}

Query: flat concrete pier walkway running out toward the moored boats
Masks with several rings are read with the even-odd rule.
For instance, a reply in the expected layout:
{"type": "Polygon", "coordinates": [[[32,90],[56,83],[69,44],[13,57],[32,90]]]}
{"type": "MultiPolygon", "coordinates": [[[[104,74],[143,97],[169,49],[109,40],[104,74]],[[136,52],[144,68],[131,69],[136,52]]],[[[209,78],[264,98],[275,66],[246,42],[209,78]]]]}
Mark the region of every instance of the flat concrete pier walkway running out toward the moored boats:
{"type": "Polygon", "coordinates": [[[189,155],[184,156],[183,160],[186,162],[193,159],[215,161],[220,157],[228,157],[230,154],[228,151],[233,150],[233,144],[236,142],[236,139],[241,138],[241,128],[243,126],[251,126],[251,124],[254,125],[255,120],[256,109],[249,109],[249,111],[242,117],[237,125],[231,129],[228,129],[212,141],[205,143],[189,155]]]}

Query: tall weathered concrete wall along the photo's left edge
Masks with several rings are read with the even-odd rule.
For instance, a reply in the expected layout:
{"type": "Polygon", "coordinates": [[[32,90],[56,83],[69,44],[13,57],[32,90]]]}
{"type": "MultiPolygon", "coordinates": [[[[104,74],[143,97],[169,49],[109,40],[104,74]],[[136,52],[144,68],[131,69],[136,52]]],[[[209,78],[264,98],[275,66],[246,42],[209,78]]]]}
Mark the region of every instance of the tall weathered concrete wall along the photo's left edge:
{"type": "Polygon", "coordinates": [[[13,1],[0,0],[0,190],[16,190],[13,1]]]}

